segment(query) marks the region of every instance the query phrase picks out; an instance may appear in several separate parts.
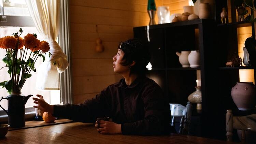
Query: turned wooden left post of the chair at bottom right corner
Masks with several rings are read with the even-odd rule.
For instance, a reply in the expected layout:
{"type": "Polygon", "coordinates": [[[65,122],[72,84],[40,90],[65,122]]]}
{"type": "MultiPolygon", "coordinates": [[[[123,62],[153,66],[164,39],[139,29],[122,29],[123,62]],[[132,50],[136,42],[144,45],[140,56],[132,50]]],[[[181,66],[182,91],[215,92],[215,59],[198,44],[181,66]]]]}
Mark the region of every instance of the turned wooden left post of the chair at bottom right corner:
{"type": "Polygon", "coordinates": [[[232,141],[233,136],[233,114],[232,110],[227,110],[226,113],[226,136],[227,141],[232,141]]]}

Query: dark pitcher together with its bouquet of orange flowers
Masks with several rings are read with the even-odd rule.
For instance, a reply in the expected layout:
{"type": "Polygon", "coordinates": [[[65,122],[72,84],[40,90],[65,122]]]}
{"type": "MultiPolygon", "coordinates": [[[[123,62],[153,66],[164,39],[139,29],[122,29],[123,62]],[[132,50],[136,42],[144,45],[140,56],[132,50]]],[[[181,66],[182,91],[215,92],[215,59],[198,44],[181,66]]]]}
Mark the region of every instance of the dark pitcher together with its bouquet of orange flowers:
{"type": "Polygon", "coordinates": [[[42,57],[44,61],[45,56],[43,54],[49,53],[50,49],[48,42],[37,39],[37,34],[28,33],[23,39],[20,37],[23,32],[22,28],[19,29],[19,32],[20,34],[16,32],[12,36],[0,38],[0,48],[6,50],[6,55],[2,59],[6,65],[0,70],[7,68],[10,75],[10,80],[0,83],[0,86],[8,90],[10,94],[1,99],[8,100],[8,111],[4,110],[1,105],[0,107],[7,113],[10,127],[15,128],[25,126],[25,104],[32,96],[25,97],[22,95],[22,87],[26,80],[31,77],[31,72],[36,72],[34,64],[38,57],[42,57]]]}

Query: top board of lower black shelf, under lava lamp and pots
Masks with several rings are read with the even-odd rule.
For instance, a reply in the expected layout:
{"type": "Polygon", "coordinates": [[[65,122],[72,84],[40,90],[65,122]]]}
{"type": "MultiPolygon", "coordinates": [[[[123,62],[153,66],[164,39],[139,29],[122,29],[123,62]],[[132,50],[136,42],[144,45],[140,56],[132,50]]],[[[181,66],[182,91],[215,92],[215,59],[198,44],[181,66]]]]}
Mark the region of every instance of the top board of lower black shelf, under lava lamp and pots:
{"type": "Polygon", "coordinates": [[[148,26],[134,27],[134,28],[144,28],[145,30],[149,30],[149,29],[168,28],[168,27],[192,26],[192,25],[202,24],[203,21],[212,21],[213,23],[215,23],[213,19],[194,19],[194,20],[178,21],[174,23],[148,25],[148,26]]]}

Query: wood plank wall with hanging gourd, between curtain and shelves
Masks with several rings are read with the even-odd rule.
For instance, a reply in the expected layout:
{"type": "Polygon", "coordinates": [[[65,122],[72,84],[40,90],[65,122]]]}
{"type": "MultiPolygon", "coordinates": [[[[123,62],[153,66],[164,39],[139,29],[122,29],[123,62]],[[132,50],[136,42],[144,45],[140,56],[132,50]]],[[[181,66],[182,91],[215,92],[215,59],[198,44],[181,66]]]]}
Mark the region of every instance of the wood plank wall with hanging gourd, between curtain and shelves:
{"type": "Polygon", "coordinates": [[[73,102],[81,103],[122,78],[113,72],[112,57],[120,41],[133,38],[133,27],[148,25],[147,0],[71,0],[70,23],[73,102]],[[96,25],[103,53],[95,52],[96,25]]]}

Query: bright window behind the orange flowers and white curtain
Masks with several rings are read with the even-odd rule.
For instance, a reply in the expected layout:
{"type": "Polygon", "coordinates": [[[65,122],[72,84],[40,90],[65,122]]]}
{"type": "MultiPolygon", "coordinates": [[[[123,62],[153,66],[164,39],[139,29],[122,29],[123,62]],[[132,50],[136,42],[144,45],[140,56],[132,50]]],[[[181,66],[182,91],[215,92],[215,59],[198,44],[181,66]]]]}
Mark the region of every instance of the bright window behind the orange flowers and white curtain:
{"type": "MultiPolygon", "coordinates": [[[[37,33],[39,40],[44,40],[34,27],[33,21],[29,15],[25,0],[0,0],[0,37],[11,35],[14,32],[18,32],[19,28],[23,29],[21,37],[24,37],[27,33],[37,33]]],[[[2,59],[6,54],[4,49],[0,49],[0,58],[2,59]]],[[[42,63],[42,59],[38,59],[35,63],[35,68],[38,69],[42,63]]],[[[0,62],[0,68],[4,67],[4,62],[0,62]]],[[[0,71],[0,82],[9,80],[9,74],[7,68],[3,68],[0,71]]],[[[24,87],[22,88],[22,94],[27,95],[43,95],[44,100],[50,104],[60,104],[60,90],[36,90],[35,82],[37,78],[37,72],[32,72],[32,76],[28,78],[24,87]]],[[[0,96],[6,97],[9,93],[5,88],[0,89],[0,96]]],[[[25,107],[32,107],[34,105],[32,98],[29,98],[25,107]]],[[[2,100],[1,106],[4,109],[8,109],[8,101],[2,100]]],[[[33,109],[31,109],[33,110],[33,109]]],[[[0,108],[0,111],[2,109],[0,108]]],[[[0,113],[5,114],[5,113],[0,113]]]]}

